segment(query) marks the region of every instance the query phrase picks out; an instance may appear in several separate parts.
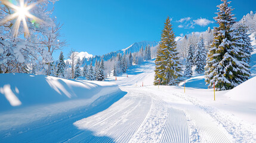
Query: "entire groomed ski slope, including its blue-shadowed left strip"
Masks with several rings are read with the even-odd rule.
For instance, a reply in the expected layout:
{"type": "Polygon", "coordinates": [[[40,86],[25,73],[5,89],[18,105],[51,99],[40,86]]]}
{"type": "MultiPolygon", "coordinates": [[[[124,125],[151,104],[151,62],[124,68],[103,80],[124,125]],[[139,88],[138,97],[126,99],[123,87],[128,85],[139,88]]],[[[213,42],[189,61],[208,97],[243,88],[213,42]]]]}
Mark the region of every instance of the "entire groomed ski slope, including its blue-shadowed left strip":
{"type": "Polygon", "coordinates": [[[216,92],[213,101],[212,89],[186,88],[184,94],[183,86],[158,88],[154,69],[153,60],[132,66],[128,77],[107,79],[122,92],[24,126],[34,127],[24,132],[9,130],[0,142],[256,142],[254,103],[232,100],[229,91],[216,92]]]}

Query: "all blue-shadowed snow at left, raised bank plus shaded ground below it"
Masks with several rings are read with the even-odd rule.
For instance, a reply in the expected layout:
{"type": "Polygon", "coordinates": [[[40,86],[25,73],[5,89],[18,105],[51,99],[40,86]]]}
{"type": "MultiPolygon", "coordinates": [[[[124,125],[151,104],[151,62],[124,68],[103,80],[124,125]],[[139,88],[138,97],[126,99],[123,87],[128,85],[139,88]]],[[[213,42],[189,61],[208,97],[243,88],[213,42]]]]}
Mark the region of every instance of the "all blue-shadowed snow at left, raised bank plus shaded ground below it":
{"type": "Polygon", "coordinates": [[[0,142],[63,141],[79,132],[73,122],[126,94],[110,82],[34,74],[0,74],[0,79],[0,142]]]}

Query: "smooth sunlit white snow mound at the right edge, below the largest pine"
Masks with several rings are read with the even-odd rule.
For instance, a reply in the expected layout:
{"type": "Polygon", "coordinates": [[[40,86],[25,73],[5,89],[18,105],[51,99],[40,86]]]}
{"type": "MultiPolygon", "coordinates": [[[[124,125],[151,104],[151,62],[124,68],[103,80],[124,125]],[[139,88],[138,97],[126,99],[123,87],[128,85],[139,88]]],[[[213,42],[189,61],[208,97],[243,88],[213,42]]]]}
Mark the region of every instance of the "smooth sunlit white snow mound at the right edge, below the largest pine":
{"type": "Polygon", "coordinates": [[[253,77],[246,82],[243,82],[236,88],[233,88],[225,95],[230,97],[232,100],[242,101],[242,102],[256,102],[256,77],[253,77]]]}

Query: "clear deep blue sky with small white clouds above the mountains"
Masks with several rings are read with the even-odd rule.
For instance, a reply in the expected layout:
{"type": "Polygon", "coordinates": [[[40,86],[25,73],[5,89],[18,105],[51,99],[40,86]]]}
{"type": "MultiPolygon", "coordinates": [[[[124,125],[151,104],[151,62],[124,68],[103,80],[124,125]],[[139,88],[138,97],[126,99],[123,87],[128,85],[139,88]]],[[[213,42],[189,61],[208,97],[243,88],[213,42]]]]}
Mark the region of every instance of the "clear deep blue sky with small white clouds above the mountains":
{"type": "MultiPolygon", "coordinates": [[[[220,0],[98,0],[56,2],[54,15],[64,24],[62,33],[71,48],[92,55],[127,48],[134,42],[160,41],[166,17],[172,18],[176,36],[202,32],[217,26],[216,16],[220,0]]],[[[256,11],[255,0],[234,0],[230,4],[238,20],[256,11]]],[[[59,52],[54,53],[57,59],[59,52]]]]}

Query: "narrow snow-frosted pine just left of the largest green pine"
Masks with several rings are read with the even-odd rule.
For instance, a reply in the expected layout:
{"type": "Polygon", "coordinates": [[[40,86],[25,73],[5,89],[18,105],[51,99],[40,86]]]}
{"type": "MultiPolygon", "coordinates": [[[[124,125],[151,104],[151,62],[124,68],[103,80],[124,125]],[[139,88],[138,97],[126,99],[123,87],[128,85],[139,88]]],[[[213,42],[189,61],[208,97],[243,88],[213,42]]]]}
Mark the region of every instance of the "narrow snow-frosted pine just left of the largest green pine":
{"type": "Polygon", "coordinates": [[[206,49],[203,43],[203,37],[200,36],[198,44],[196,46],[196,57],[195,57],[195,65],[196,65],[196,72],[199,74],[204,73],[205,65],[206,65],[206,49]]]}

